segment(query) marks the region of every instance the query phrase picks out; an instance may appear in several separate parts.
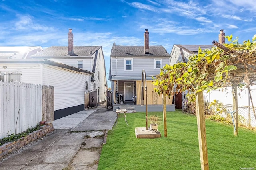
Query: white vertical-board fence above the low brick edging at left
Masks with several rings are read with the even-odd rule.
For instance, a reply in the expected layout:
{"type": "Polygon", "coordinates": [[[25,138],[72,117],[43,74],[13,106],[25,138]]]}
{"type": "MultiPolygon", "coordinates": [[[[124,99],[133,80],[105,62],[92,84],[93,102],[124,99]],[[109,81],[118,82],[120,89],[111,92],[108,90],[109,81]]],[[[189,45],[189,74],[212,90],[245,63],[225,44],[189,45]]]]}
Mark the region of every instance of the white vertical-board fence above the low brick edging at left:
{"type": "Polygon", "coordinates": [[[0,81],[0,139],[42,120],[42,85],[0,81]]]}

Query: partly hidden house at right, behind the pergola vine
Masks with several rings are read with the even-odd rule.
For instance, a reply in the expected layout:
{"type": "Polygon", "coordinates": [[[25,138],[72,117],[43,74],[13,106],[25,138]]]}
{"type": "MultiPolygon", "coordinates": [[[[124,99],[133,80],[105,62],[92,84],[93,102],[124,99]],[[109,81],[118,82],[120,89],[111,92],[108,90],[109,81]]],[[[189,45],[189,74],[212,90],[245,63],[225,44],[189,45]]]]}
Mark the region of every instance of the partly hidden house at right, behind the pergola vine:
{"type": "MultiPolygon", "coordinates": [[[[223,29],[220,30],[219,34],[219,43],[224,44],[225,43],[225,33],[223,32],[223,29]]],[[[180,62],[188,62],[188,59],[190,56],[198,54],[199,47],[204,49],[211,49],[214,45],[177,45],[174,44],[172,47],[172,51],[170,53],[170,65],[174,65],[176,63],[180,62]]],[[[186,100],[185,93],[183,94],[176,94],[174,96],[174,103],[176,109],[181,109],[184,107],[184,104],[186,103],[184,100],[186,100]],[[183,99],[183,100],[182,100],[183,99]]]]}

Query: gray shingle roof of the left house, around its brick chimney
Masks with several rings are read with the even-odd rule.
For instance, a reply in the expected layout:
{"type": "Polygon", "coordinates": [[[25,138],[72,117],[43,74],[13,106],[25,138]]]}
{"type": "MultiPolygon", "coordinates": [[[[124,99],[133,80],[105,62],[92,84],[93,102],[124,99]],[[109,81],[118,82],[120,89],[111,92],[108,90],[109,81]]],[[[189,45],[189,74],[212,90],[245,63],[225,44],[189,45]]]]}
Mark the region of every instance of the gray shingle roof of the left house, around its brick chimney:
{"type": "Polygon", "coordinates": [[[52,46],[43,51],[32,55],[32,57],[58,57],[58,56],[68,56],[68,57],[77,57],[77,56],[92,56],[92,54],[99,50],[101,46],[74,46],[74,53],[76,56],[70,56],[68,54],[67,46],[52,46]],[[92,51],[92,53],[91,53],[92,51]]]}

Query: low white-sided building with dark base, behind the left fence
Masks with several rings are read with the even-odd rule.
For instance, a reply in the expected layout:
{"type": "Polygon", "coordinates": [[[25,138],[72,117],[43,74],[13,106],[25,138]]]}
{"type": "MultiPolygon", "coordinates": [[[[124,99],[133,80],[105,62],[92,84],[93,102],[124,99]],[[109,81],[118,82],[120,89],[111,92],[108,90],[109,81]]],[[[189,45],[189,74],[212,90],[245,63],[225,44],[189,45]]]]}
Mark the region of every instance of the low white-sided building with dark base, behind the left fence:
{"type": "Polygon", "coordinates": [[[0,59],[0,80],[54,86],[54,118],[84,110],[93,72],[46,59],[0,59]]]}

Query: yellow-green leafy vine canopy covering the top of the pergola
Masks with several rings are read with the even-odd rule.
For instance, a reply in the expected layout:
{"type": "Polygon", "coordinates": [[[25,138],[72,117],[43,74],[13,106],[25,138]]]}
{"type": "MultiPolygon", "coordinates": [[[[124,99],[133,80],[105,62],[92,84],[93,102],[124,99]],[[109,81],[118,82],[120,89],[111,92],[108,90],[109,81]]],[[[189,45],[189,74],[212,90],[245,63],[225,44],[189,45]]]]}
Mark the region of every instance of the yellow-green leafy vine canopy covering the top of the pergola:
{"type": "Polygon", "coordinates": [[[233,81],[250,84],[249,78],[255,80],[256,73],[256,36],[243,44],[238,43],[238,37],[226,38],[230,42],[225,44],[226,51],[217,46],[203,51],[199,47],[198,54],[190,56],[187,63],[164,66],[154,80],[155,92],[163,94],[165,90],[170,97],[188,90],[188,100],[193,101],[199,91],[230,86],[233,81]]]}

